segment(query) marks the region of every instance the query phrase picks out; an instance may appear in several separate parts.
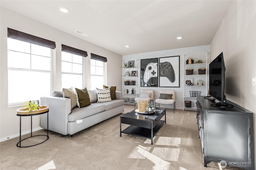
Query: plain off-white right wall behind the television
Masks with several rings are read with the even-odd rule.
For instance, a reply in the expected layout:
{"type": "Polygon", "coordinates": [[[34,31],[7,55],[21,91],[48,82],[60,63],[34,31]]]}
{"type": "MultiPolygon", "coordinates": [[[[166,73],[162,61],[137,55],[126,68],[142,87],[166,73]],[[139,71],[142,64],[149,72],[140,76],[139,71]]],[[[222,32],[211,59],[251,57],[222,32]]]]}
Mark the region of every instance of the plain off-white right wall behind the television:
{"type": "Polygon", "coordinates": [[[226,99],[254,113],[255,148],[256,1],[232,2],[210,45],[211,60],[223,51],[226,99]]]}

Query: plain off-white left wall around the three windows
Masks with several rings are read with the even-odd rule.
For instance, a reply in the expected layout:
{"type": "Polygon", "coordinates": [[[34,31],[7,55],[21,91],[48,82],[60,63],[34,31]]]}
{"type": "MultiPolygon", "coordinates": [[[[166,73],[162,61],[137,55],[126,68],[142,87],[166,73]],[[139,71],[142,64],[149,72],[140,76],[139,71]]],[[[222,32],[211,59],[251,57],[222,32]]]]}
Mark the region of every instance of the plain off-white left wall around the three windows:
{"type": "MultiPolygon", "coordinates": [[[[117,90],[122,90],[121,63],[122,56],[102,47],[84,41],[64,33],[58,29],[32,20],[16,12],[10,11],[1,6],[0,8],[0,141],[19,135],[19,118],[16,110],[21,106],[8,107],[8,68],[7,68],[7,27],[22,31],[31,35],[36,35],[44,39],[56,42],[56,49],[53,57],[53,86],[52,90],[61,89],[61,44],[68,45],[88,52],[86,57],[86,75],[84,85],[90,87],[90,53],[104,56],[107,62],[107,82],[106,86],[117,86],[117,90]],[[119,64],[118,64],[119,63],[119,64]]],[[[36,84],[36,82],[34,82],[36,84]]],[[[17,88],[19,85],[17,83],[17,88]]],[[[20,89],[22,90],[22,89],[20,89]]],[[[19,94],[17,94],[19,95],[19,94]]],[[[46,94],[46,95],[50,95],[46,94]]],[[[40,117],[33,117],[33,129],[40,129],[40,117]]],[[[30,130],[30,117],[22,118],[22,132],[28,133],[30,130]]],[[[18,141],[17,141],[18,142],[18,141]]]]}

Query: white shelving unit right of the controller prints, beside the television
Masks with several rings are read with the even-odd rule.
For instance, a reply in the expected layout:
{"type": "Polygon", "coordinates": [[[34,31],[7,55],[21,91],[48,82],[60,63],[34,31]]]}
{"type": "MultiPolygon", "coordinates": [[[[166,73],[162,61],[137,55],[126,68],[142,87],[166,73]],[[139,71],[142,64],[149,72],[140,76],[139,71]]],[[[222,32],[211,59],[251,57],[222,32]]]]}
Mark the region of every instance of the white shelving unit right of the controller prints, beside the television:
{"type": "MultiPolygon", "coordinates": [[[[200,58],[203,63],[195,63],[198,58],[194,59],[194,64],[186,64],[189,56],[183,55],[183,110],[196,110],[196,95],[190,95],[190,92],[200,92],[200,96],[207,96],[208,87],[208,53],[200,58]],[[199,74],[198,69],[204,68],[205,74],[199,74]],[[193,69],[193,74],[186,75],[186,70],[193,69]],[[186,80],[191,80],[192,86],[186,84],[186,80]],[[202,80],[202,86],[198,82],[202,80]],[[194,97],[192,97],[194,96],[194,97]],[[186,107],[185,101],[191,102],[191,107],[186,107]]],[[[193,59],[193,57],[191,57],[193,59]]]]}

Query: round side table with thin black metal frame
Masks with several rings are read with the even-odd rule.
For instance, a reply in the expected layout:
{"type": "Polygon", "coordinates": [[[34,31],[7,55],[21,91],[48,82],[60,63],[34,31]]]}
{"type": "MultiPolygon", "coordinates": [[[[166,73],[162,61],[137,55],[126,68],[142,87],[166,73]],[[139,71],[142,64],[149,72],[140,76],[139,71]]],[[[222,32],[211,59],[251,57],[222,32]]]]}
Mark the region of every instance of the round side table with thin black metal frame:
{"type": "Polygon", "coordinates": [[[47,141],[49,139],[49,130],[48,130],[48,112],[49,112],[49,108],[47,106],[40,106],[40,108],[41,107],[42,107],[42,109],[36,110],[36,111],[34,111],[34,112],[30,113],[30,114],[28,114],[28,113],[26,113],[24,111],[19,111],[20,109],[17,110],[17,114],[16,115],[20,116],[20,141],[17,143],[17,147],[21,147],[21,148],[32,147],[32,146],[36,146],[36,145],[39,145],[41,143],[44,143],[45,141],[47,141]],[[47,135],[35,135],[35,136],[32,136],[32,116],[42,115],[44,113],[47,113],[47,135]],[[21,117],[24,117],[24,116],[31,116],[31,136],[21,140],[21,117]],[[22,147],[21,146],[21,141],[24,141],[24,140],[26,140],[28,138],[36,137],[36,136],[47,136],[47,139],[45,141],[42,141],[41,143],[36,144],[36,145],[30,145],[30,146],[26,146],[26,147],[22,147]]]}

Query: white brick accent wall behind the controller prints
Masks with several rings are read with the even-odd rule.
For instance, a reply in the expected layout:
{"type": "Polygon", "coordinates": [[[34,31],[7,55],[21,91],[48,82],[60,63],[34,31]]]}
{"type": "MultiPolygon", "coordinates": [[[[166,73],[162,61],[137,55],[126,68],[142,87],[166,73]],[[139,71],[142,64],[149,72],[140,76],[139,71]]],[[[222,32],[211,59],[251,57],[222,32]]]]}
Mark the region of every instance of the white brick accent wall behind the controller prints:
{"type": "MultiPolygon", "coordinates": [[[[183,109],[183,90],[184,90],[184,96],[189,96],[189,90],[194,90],[194,91],[202,91],[201,96],[206,96],[206,87],[187,87],[184,86],[184,74],[185,78],[186,73],[185,70],[188,69],[188,64],[186,66],[186,60],[190,57],[196,62],[197,60],[202,60],[203,63],[206,63],[206,53],[208,55],[207,63],[210,63],[210,45],[202,45],[202,46],[196,46],[196,47],[186,47],[186,48],[180,48],[180,49],[170,49],[170,50],[164,50],[164,51],[154,51],[154,52],[149,52],[149,53],[140,53],[140,54],[133,54],[133,55],[123,55],[123,61],[128,63],[128,61],[135,61],[138,70],[138,77],[137,77],[137,90],[135,93],[140,94],[140,89],[149,89],[152,88],[154,90],[154,101],[159,98],[159,90],[161,89],[170,89],[175,91],[175,96],[176,96],[176,109],[183,109]],[[160,57],[172,57],[172,56],[180,56],[180,87],[140,87],[140,60],[141,59],[153,59],[153,58],[160,58],[160,57]],[[183,59],[184,56],[184,59],[183,59]]],[[[194,72],[198,73],[198,68],[203,68],[201,64],[199,66],[196,65],[191,65],[194,69],[194,72]]],[[[204,64],[203,64],[204,66],[204,64]]],[[[204,66],[205,68],[205,66],[204,66]]],[[[208,65],[207,65],[208,68],[208,65]]],[[[135,70],[136,68],[134,68],[135,70]]],[[[123,70],[123,75],[125,75],[125,72],[127,70],[123,70]]],[[[207,72],[208,69],[207,69],[207,72]]],[[[208,83],[209,83],[209,74],[205,76],[193,76],[193,82],[196,84],[197,80],[207,80],[207,88],[208,88],[208,83]],[[204,78],[204,79],[202,79],[204,78]]],[[[159,77],[159,75],[158,75],[159,77]]],[[[205,81],[204,81],[205,82],[205,81]]],[[[124,84],[124,82],[122,82],[124,84]]],[[[158,83],[159,84],[159,83],[158,83]]],[[[127,86],[125,87],[127,89],[127,86]]],[[[123,89],[125,89],[123,87],[123,89]]],[[[135,88],[135,89],[136,89],[135,88]]],[[[130,92],[130,91],[129,91],[130,92]]],[[[132,98],[131,95],[124,95],[124,97],[127,98],[132,98]]],[[[186,98],[185,98],[186,100],[186,98]]],[[[165,107],[167,108],[173,108],[173,106],[168,106],[166,105],[165,107]]],[[[192,102],[192,107],[194,107],[194,102],[192,102]]],[[[185,108],[184,108],[185,109],[185,108]]]]}

